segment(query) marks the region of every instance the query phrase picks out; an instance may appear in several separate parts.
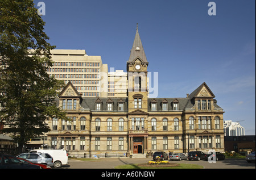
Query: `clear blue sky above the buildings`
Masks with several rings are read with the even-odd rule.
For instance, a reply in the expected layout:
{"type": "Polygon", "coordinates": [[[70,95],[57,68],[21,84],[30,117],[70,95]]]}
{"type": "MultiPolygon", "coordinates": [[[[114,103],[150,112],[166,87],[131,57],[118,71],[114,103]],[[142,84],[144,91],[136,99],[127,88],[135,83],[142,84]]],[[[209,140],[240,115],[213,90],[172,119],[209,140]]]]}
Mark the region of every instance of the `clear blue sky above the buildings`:
{"type": "Polygon", "coordinates": [[[254,0],[213,0],[216,16],[208,15],[207,0],[43,2],[56,49],[85,49],[126,71],[138,23],[159,98],[186,97],[206,82],[224,120],[242,121],[246,135],[255,135],[254,0]]]}

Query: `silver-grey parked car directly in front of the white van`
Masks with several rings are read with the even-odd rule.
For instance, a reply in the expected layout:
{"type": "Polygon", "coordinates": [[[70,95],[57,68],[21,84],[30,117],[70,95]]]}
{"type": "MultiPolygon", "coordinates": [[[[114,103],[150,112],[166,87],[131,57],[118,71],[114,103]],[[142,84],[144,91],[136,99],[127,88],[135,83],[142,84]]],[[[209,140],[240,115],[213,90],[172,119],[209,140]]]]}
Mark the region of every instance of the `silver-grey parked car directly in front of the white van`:
{"type": "Polygon", "coordinates": [[[53,158],[48,153],[22,153],[16,157],[23,158],[36,164],[47,164],[53,167],[53,158]]]}

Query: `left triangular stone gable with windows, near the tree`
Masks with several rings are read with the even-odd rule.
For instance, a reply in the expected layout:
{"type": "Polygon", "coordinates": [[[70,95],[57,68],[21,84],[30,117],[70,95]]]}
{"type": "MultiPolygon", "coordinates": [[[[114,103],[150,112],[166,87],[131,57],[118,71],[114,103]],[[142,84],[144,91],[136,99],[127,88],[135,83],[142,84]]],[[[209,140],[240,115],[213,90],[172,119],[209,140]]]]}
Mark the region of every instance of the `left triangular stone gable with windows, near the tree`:
{"type": "Polygon", "coordinates": [[[60,98],[59,106],[62,110],[71,111],[79,109],[82,95],[76,90],[76,87],[73,86],[71,81],[65,85],[58,97],[60,98]]]}

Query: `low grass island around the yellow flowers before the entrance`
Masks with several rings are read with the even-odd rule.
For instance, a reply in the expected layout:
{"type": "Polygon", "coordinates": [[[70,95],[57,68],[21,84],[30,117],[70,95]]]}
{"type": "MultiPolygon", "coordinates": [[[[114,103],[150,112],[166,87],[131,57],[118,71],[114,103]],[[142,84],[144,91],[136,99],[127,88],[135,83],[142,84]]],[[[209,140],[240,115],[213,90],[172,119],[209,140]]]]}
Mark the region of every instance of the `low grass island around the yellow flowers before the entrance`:
{"type": "Polygon", "coordinates": [[[161,168],[141,167],[141,166],[138,166],[138,164],[115,166],[115,169],[202,169],[202,168],[204,167],[200,165],[194,165],[194,164],[179,164],[179,166],[175,166],[175,167],[161,167],[161,168]]]}

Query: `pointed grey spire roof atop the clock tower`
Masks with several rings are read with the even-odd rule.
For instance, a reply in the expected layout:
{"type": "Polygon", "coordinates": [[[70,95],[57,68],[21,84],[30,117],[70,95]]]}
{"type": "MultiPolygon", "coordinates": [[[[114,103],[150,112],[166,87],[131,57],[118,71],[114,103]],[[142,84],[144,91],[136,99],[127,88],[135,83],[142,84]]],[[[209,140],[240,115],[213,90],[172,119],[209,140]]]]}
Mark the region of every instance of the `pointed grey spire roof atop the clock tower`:
{"type": "Polygon", "coordinates": [[[141,37],[139,37],[138,23],[135,38],[133,41],[133,47],[131,48],[131,53],[128,62],[133,62],[137,58],[139,58],[142,62],[147,62],[147,58],[141,42],[141,37]]]}

